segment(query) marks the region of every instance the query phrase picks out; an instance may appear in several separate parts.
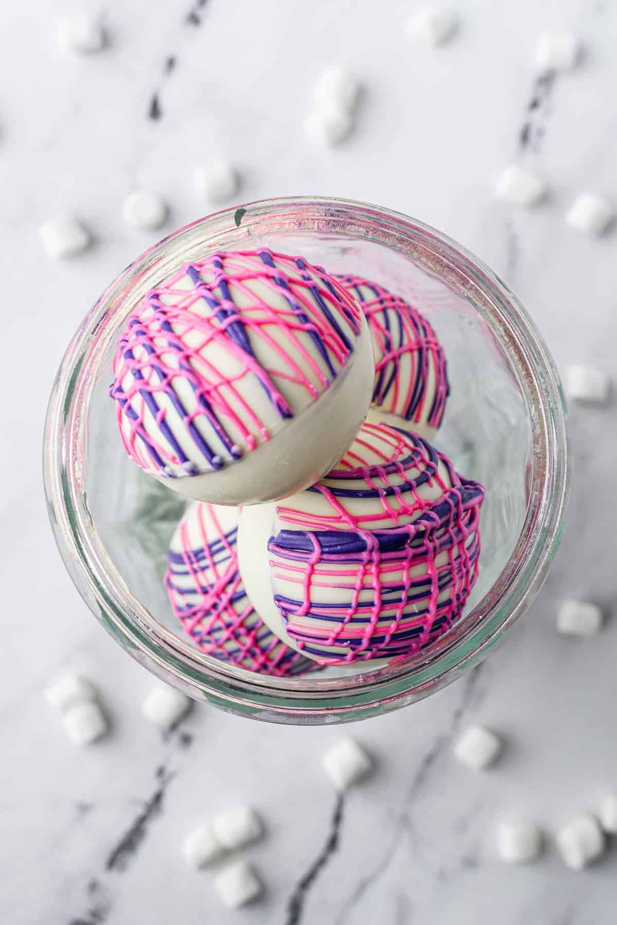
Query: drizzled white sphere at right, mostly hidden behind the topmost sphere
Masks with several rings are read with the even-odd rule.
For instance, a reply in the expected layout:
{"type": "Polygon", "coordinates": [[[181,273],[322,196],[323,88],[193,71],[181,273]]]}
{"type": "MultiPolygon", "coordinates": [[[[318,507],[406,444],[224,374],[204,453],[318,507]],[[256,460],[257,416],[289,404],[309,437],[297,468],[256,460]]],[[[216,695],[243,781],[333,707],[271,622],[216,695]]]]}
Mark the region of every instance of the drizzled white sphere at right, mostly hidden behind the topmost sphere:
{"type": "Polygon", "coordinates": [[[381,413],[386,424],[408,426],[432,440],[450,393],[446,356],[435,331],[409,302],[378,283],[356,276],[339,279],[360,302],[371,332],[372,411],[381,413]]]}

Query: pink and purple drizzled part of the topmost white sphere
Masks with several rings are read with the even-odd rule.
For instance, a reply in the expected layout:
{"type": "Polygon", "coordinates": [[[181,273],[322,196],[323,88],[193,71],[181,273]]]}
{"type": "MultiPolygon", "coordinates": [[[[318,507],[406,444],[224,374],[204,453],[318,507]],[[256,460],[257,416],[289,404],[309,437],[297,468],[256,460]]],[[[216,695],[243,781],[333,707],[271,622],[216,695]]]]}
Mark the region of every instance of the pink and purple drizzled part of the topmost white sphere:
{"type": "Polygon", "coordinates": [[[336,279],[302,257],[262,249],[183,265],[148,294],[118,340],[111,395],[125,450],[164,476],[197,475],[255,450],[274,422],[258,413],[249,389],[265,392],[277,426],[292,417],[290,385],[304,394],[302,407],[315,401],[347,363],[361,314],[336,279]],[[191,290],[179,288],[187,278],[191,290]],[[254,282],[285,305],[256,295],[254,282]],[[264,349],[276,363],[259,362],[264,349]],[[180,383],[194,397],[191,408],[180,383]],[[146,423],[150,414],[155,426],[146,423]]]}

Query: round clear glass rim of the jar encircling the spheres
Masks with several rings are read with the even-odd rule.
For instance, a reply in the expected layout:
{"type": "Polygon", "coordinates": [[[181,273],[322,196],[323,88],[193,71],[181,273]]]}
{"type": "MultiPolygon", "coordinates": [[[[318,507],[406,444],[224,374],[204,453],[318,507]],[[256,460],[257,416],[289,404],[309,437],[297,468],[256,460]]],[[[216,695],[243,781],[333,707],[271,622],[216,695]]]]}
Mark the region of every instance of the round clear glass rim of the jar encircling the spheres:
{"type": "Polygon", "coordinates": [[[62,361],[45,425],[44,481],[52,526],[69,573],[118,642],[193,697],[257,719],[351,721],[426,697],[482,660],[526,610],[559,545],[569,491],[565,402],[536,327],[510,290],[460,245],[421,222],[376,206],[298,197],[244,203],[179,229],[142,254],[105,290],[62,361]],[[241,213],[241,216],[240,216],[241,213]],[[130,312],[129,293],[148,289],[178,263],[179,248],[232,250],[262,234],[318,233],[372,240],[401,253],[471,302],[507,351],[531,426],[524,524],[510,559],[475,608],[450,631],[400,663],[330,677],[278,678],[216,661],[157,623],[105,552],[88,507],[84,475],[88,411],[105,348],[130,312]]]}

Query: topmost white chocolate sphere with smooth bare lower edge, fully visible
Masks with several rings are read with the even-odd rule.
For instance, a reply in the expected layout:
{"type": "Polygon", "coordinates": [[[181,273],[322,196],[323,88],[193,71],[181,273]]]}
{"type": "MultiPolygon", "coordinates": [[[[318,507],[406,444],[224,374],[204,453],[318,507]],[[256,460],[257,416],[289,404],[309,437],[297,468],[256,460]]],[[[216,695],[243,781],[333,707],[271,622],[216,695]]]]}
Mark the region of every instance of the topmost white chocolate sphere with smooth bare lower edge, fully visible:
{"type": "Polygon", "coordinates": [[[111,396],[130,458],[191,498],[284,498],[326,473],[364,420],[364,315],[302,257],[215,253],[151,290],[118,340],[111,396]]]}

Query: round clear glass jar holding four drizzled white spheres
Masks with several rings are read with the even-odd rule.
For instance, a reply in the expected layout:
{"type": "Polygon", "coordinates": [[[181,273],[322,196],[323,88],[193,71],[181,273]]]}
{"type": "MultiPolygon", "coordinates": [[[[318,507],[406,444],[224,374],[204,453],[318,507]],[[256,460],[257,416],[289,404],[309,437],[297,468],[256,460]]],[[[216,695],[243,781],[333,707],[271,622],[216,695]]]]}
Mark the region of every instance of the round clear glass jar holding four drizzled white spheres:
{"type": "Polygon", "coordinates": [[[181,228],[111,284],[72,339],[52,391],[44,445],[61,555],[105,629],[154,674],[253,719],[316,724],[413,703],[484,659],[529,607],[561,537],[569,467],[559,377],[507,287],[433,228],[364,203],[249,203],[181,228]],[[128,458],[107,388],[125,319],[184,261],[271,247],[333,273],[374,278],[426,314],[449,360],[451,394],[435,440],[483,482],[480,577],[463,619],[425,650],[379,670],[286,679],[204,655],[181,635],[162,585],[184,500],[128,458]]]}

